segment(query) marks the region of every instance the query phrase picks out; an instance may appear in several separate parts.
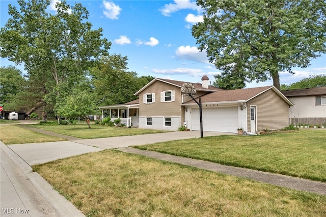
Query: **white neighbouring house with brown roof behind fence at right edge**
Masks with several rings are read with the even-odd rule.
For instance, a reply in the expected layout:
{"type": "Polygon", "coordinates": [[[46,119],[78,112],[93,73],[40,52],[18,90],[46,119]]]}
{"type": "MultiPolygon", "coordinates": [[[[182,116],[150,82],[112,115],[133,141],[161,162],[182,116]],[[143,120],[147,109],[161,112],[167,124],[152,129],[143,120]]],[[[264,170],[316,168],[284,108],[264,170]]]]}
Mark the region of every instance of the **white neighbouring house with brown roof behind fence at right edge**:
{"type": "Polygon", "coordinates": [[[326,87],[285,90],[282,93],[295,104],[289,109],[290,123],[326,123],[326,87]]]}

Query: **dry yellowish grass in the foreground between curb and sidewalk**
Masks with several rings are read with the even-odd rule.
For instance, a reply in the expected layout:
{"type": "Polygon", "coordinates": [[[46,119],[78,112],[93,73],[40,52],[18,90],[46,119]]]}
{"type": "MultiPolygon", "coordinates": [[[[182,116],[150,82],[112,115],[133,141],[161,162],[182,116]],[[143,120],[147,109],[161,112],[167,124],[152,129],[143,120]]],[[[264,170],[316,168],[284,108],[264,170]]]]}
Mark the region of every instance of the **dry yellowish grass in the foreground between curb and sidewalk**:
{"type": "Polygon", "coordinates": [[[325,216],[326,197],[105,150],[33,167],[86,216],[325,216]]]}

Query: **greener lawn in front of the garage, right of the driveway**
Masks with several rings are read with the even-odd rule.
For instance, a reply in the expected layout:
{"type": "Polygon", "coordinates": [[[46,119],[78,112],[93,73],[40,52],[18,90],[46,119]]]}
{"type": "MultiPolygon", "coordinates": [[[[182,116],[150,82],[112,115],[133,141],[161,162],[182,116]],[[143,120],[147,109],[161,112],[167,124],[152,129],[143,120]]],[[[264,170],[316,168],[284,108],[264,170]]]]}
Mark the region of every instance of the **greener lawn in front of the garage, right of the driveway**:
{"type": "Polygon", "coordinates": [[[326,182],[324,130],[247,137],[222,135],[135,147],[326,182]]]}

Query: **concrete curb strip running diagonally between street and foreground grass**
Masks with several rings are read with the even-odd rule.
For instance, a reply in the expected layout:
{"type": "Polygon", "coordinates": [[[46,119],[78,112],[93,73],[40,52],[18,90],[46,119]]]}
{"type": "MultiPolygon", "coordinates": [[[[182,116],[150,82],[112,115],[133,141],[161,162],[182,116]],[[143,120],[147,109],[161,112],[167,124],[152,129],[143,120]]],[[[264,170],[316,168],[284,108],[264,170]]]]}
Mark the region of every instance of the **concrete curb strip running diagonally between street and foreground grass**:
{"type": "Polygon", "coordinates": [[[27,180],[31,182],[38,193],[56,210],[57,216],[85,216],[72,203],[53,189],[53,187],[13,150],[0,141],[1,149],[22,170],[27,180]]]}

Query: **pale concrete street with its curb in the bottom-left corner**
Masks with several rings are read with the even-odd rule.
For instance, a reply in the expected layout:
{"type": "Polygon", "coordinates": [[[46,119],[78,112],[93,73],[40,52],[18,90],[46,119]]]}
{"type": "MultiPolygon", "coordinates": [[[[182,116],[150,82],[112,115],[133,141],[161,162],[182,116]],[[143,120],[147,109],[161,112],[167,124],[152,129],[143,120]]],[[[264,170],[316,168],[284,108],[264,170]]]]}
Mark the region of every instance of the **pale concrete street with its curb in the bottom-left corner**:
{"type": "Polygon", "coordinates": [[[0,141],[1,216],[85,216],[0,141]]]}

